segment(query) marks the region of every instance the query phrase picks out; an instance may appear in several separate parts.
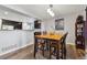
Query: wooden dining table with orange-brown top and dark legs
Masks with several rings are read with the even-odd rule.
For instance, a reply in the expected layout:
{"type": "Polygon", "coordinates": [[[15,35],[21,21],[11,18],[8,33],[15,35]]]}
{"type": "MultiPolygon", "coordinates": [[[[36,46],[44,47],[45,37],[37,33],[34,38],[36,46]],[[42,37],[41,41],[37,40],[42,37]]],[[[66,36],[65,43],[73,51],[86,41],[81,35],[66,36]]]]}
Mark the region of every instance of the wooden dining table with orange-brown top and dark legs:
{"type": "MultiPolygon", "coordinates": [[[[35,35],[35,43],[34,43],[34,56],[35,56],[35,52],[36,52],[36,39],[42,39],[45,40],[47,42],[47,44],[51,43],[51,41],[55,41],[56,43],[58,43],[61,41],[61,39],[63,37],[64,34],[41,34],[41,35],[35,35]]],[[[50,46],[50,45],[48,45],[50,46]]],[[[58,44],[57,44],[57,48],[58,44]]],[[[59,51],[57,51],[57,59],[59,58],[59,51]]]]}

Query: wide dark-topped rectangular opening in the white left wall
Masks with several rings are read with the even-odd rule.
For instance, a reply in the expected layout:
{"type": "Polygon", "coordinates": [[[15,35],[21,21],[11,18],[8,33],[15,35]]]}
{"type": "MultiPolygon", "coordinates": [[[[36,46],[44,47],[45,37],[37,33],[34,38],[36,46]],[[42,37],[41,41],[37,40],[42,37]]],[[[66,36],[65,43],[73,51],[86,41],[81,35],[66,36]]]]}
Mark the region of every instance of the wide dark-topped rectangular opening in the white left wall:
{"type": "Polygon", "coordinates": [[[22,30],[22,22],[2,19],[1,30],[22,30]]]}

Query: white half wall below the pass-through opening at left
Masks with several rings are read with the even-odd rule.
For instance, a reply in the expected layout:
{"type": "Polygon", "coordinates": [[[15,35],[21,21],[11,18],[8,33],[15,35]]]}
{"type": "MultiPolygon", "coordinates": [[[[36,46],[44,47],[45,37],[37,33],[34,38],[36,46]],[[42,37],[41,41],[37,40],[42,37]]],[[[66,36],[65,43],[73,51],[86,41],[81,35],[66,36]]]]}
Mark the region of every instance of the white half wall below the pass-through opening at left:
{"type": "Polygon", "coordinates": [[[0,31],[0,55],[31,44],[32,33],[25,31],[0,31]]]}

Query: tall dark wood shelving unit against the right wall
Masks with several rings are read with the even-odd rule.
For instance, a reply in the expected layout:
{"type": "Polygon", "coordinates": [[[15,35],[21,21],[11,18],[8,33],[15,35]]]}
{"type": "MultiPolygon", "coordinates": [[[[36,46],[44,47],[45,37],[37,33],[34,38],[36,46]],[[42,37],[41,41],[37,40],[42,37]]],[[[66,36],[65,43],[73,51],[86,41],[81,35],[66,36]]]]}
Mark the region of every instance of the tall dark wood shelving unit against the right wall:
{"type": "Polygon", "coordinates": [[[78,15],[75,23],[76,48],[85,50],[85,21],[83,15],[78,15]]]}

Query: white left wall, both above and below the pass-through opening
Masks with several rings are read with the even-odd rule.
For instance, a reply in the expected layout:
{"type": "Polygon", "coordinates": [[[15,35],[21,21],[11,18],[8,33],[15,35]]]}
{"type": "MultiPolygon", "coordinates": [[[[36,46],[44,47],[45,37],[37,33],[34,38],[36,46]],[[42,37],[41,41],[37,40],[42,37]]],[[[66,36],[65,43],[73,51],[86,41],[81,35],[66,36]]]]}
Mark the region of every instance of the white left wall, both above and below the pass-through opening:
{"type": "MultiPolygon", "coordinates": [[[[18,12],[0,7],[0,22],[1,19],[13,20],[18,22],[34,21],[33,18],[25,17],[18,12]],[[4,14],[6,11],[8,11],[8,14],[4,14]]],[[[30,44],[33,44],[33,31],[23,31],[23,30],[1,31],[0,30],[0,55],[21,48],[30,44]]]]}

